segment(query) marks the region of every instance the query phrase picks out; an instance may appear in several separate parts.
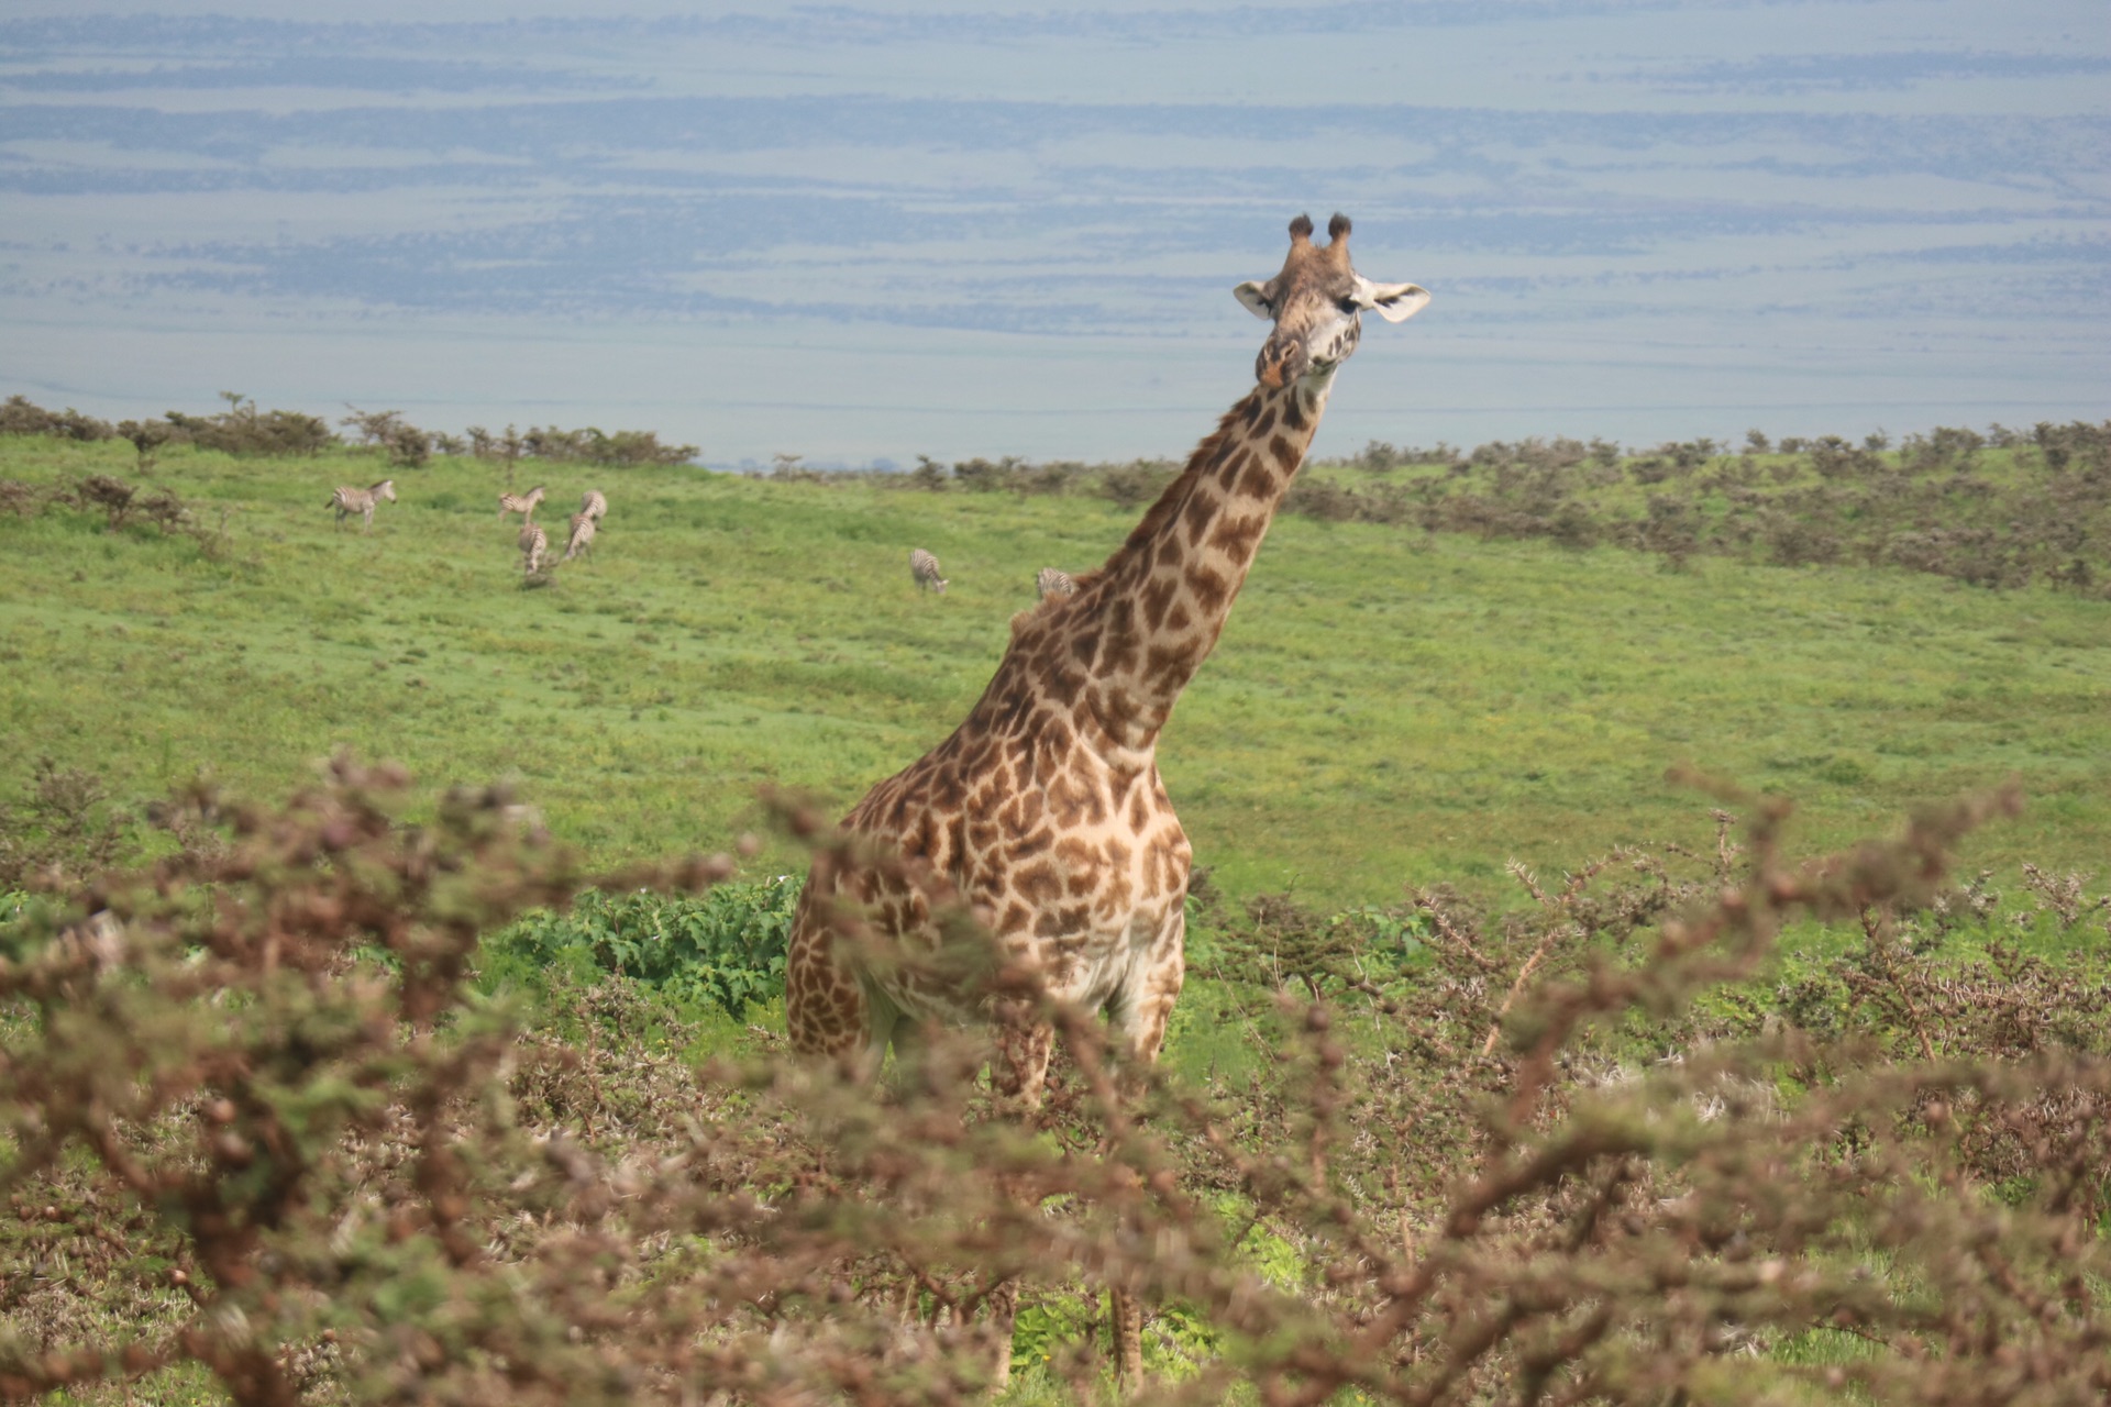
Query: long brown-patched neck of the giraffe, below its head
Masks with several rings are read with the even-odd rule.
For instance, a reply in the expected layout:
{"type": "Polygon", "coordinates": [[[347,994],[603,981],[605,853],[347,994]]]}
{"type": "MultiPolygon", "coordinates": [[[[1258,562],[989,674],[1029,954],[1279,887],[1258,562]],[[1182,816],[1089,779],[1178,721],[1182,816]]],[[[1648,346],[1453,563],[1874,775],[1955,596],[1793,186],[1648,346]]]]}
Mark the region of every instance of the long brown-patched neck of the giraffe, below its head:
{"type": "Polygon", "coordinates": [[[1096,580],[1079,584],[1070,650],[1108,743],[1148,751],[1210,656],[1305,462],[1332,373],[1256,386],[1233,405],[1096,580]]]}

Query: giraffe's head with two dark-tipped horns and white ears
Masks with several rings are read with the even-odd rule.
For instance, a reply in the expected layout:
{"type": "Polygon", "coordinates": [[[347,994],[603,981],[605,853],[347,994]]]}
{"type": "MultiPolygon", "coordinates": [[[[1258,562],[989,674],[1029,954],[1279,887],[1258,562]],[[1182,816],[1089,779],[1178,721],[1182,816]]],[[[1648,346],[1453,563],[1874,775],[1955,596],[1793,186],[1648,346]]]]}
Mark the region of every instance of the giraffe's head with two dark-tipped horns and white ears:
{"type": "Polygon", "coordinates": [[[1372,283],[1349,268],[1349,217],[1326,221],[1326,245],[1313,243],[1313,221],[1290,221],[1283,272],[1267,283],[1241,283],[1233,295],[1248,312],[1275,323],[1254,361],[1262,386],[1288,386],[1300,375],[1328,375],[1355,352],[1364,310],[1402,323],[1429,304],[1412,283],[1372,283]]]}

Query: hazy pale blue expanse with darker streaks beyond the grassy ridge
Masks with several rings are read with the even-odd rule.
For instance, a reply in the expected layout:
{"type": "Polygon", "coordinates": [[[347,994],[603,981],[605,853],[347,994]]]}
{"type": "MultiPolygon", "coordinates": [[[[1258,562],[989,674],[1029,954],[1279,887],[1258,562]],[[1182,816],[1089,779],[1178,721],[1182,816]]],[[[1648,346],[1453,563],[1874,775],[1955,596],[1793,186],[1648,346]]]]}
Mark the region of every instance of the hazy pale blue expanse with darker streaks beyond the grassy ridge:
{"type": "Polygon", "coordinates": [[[0,0],[0,392],[1184,454],[1343,209],[1321,454],[2103,418],[2107,175],[2103,0],[0,0]]]}

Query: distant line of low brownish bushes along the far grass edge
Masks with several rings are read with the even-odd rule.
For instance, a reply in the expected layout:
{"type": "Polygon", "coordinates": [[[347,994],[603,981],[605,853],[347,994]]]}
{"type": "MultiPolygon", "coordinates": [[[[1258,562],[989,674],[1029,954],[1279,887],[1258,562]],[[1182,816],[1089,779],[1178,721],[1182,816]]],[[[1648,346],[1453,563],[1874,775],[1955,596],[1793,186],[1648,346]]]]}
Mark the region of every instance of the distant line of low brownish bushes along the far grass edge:
{"type": "MultiPolygon", "coordinates": [[[[127,439],[139,473],[167,445],[236,456],[312,456],[342,445],[323,420],[258,411],[222,392],[220,416],[110,424],[80,411],[46,411],[23,397],[0,405],[0,435],[127,439]]],[[[650,430],[555,426],[464,437],[433,435],[397,411],[353,411],[344,426],[391,466],[416,468],[435,451],[500,464],[507,483],[521,460],[686,464],[695,445],[663,445],[650,430]]],[[[1091,494],[1123,508],[1150,502],[1178,473],[1169,460],[1087,464],[1015,456],[942,464],[918,456],[906,473],[832,470],[779,454],[773,481],[861,483],[969,494],[1091,494]]],[[[122,487],[122,481],[110,481],[122,487]]],[[[80,496],[80,489],[74,489],[80,496]]],[[[0,508],[34,502],[27,485],[0,483],[0,508]]],[[[1370,441],[1343,460],[1319,460],[1298,477],[1283,513],[1492,538],[1545,538],[1587,548],[1613,544],[1663,557],[1680,570],[1695,555],[1773,565],[1862,563],[1927,572],[1974,586],[2046,582],[2111,599],[2111,420],[2039,422],[1986,432],[1936,426],[1860,445],[1839,435],[1769,439],[1750,430],[1735,451],[1712,439],[1625,451],[1594,439],[1490,441],[1471,451],[1446,443],[1395,447],[1370,441]]],[[[165,529],[173,529],[165,523],[165,529]]],[[[205,538],[201,536],[201,542],[205,538]]]]}

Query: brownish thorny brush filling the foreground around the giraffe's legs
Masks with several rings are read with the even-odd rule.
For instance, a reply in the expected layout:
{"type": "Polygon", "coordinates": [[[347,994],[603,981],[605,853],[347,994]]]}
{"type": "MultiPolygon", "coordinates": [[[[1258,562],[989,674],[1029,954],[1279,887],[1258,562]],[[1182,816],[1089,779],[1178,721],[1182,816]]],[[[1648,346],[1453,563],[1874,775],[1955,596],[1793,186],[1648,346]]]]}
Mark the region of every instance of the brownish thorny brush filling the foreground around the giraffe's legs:
{"type": "Polygon", "coordinates": [[[589,875],[502,793],[403,804],[346,762],[279,812],[196,793],[220,846],[4,930],[0,1396],[184,1363],[245,1405],[967,1401],[1009,1280],[1072,1327],[1039,1369],[1077,1399],[1108,1287],[1155,1306],[1153,1401],[2111,1392],[2100,951],[1946,949],[1948,850],[2010,795],[1815,863],[1758,806],[1520,867],[1501,918],[1421,892],[1391,966],[1260,903],[1220,960],[1281,989],[1245,1084],[1121,1069],[954,915],[963,951],[897,960],[1056,1023],[1032,1116],[973,1032],[874,1086],[766,1032],[697,1067],[621,977],[481,998],[477,934],[589,875]],[[1801,920],[1862,939],[1788,979],[1801,920]]]}

